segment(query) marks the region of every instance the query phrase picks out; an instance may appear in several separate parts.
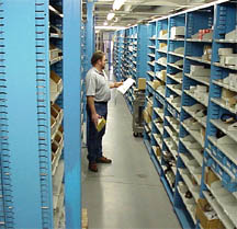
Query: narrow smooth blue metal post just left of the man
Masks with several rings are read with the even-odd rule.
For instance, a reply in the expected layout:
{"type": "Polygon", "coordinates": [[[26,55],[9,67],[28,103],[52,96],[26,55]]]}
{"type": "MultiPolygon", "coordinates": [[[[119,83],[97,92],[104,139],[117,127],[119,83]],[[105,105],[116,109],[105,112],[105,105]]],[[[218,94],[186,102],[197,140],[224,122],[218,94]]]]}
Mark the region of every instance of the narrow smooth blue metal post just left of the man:
{"type": "Polygon", "coordinates": [[[81,0],[64,1],[66,228],[81,228],[81,0]]]}

